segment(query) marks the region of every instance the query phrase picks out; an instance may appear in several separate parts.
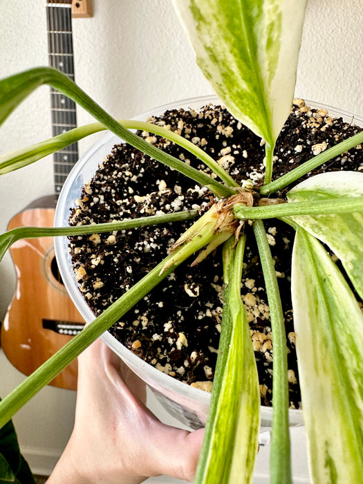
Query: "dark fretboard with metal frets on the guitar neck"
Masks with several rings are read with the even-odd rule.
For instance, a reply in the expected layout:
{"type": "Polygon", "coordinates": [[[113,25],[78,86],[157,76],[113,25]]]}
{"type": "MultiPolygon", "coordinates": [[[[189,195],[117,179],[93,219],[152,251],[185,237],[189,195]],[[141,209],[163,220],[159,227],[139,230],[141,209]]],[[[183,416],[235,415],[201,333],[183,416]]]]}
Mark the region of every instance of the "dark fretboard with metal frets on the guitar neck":
{"type": "MultiPolygon", "coordinates": [[[[49,65],[74,80],[71,1],[48,1],[46,10],[49,65]]],[[[53,88],[50,88],[50,108],[53,136],[77,126],[75,102],[53,88]]],[[[77,143],[54,153],[56,198],[77,160],[77,143]]]]}

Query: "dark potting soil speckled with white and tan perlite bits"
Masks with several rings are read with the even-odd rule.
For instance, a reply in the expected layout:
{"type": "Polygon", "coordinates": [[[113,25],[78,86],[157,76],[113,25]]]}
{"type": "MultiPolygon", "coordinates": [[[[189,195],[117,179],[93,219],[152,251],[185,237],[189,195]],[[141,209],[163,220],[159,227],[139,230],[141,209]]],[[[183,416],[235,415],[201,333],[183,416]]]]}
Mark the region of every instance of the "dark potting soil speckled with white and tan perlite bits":
{"type": "MultiPolygon", "coordinates": [[[[167,111],[153,123],[189,138],[219,160],[235,180],[263,182],[263,143],[221,106],[195,111],[167,111]]],[[[274,179],[319,151],[336,145],[360,128],[332,119],[324,110],[310,110],[297,100],[277,142],[274,179]]],[[[164,138],[140,133],[156,146],[211,174],[192,155],[164,138]]],[[[102,160],[100,160],[102,162],[102,160]]],[[[316,169],[362,170],[361,147],[316,169]]],[[[283,197],[286,190],[275,196],[283,197]]],[[[71,225],[118,221],[121,218],[205,210],[211,194],[189,178],[151,160],[128,145],[117,145],[80,195],[71,225]]],[[[96,315],[167,256],[168,248],[191,221],[123,230],[112,234],[70,237],[80,290],[96,315]]],[[[280,221],[266,221],[266,232],[286,317],[290,405],[300,406],[299,375],[290,299],[290,266],[294,232],[280,221]]],[[[252,229],[245,226],[242,298],[254,345],[261,402],[272,399],[272,335],[259,256],[252,229]]],[[[111,333],[131,351],[178,380],[211,389],[223,311],[221,249],[198,266],[184,263],[129,311],[111,333]]]]}

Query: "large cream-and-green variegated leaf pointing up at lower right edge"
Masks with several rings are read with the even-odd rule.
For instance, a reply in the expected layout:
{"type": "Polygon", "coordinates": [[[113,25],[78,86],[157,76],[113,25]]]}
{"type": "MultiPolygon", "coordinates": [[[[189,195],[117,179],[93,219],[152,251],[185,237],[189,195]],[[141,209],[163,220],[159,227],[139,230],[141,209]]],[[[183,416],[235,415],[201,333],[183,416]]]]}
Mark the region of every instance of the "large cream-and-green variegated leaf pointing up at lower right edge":
{"type": "Polygon", "coordinates": [[[300,227],[292,306],[308,452],[316,484],[363,476],[363,315],[322,245],[300,227]]]}

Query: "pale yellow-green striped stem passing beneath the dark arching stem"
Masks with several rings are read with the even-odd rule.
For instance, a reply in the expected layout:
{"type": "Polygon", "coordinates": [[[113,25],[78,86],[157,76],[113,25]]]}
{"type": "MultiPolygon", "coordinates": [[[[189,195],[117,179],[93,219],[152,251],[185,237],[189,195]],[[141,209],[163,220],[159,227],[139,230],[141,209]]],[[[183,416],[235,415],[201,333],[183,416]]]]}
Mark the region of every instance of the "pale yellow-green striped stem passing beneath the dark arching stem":
{"type": "MultiPolygon", "coordinates": [[[[179,136],[169,129],[150,122],[135,120],[118,120],[118,122],[127,129],[149,131],[150,133],[162,136],[163,138],[176,143],[176,145],[183,147],[189,151],[189,153],[194,154],[194,156],[204,162],[207,167],[210,167],[210,169],[212,169],[212,171],[214,171],[214,173],[218,175],[228,187],[239,187],[239,184],[236,183],[232,176],[230,176],[227,171],[225,171],[221,165],[212,158],[212,156],[209,156],[203,149],[183,138],[183,136],[179,136]]],[[[41,158],[44,158],[44,156],[59,151],[59,149],[63,149],[68,145],[72,145],[73,143],[86,138],[86,136],[98,133],[99,131],[104,131],[105,129],[106,128],[103,124],[94,122],[75,129],[70,129],[69,131],[66,131],[66,133],[61,133],[54,136],[54,138],[41,141],[36,145],[6,153],[0,156],[0,175],[30,165],[30,163],[40,160],[41,158]]]]}

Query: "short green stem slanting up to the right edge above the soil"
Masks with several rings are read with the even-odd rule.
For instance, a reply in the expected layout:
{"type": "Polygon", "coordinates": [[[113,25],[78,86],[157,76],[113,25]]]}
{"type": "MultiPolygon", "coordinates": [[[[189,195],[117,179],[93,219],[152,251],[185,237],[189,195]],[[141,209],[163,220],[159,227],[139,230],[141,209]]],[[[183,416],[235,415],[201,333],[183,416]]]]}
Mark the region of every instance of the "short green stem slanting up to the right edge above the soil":
{"type": "Polygon", "coordinates": [[[306,175],[309,171],[323,165],[323,163],[335,158],[335,156],[339,156],[345,151],[348,151],[348,149],[360,145],[361,143],[363,143],[363,131],[351,136],[351,138],[348,138],[347,140],[339,142],[337,145],[323,151],[323,153],[319,153],[319,155],[311,160],[308,160],[299,167],[291,170],[290,173],[281,176],[278,180],[274,180],[272,183],[265,183],[260,189],[260,194],[267,195],[278,192],[290,185],[290,183],[298,180],[301,176],[306,175]]]}

